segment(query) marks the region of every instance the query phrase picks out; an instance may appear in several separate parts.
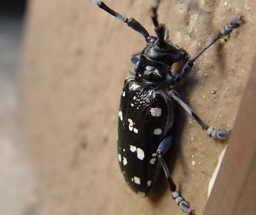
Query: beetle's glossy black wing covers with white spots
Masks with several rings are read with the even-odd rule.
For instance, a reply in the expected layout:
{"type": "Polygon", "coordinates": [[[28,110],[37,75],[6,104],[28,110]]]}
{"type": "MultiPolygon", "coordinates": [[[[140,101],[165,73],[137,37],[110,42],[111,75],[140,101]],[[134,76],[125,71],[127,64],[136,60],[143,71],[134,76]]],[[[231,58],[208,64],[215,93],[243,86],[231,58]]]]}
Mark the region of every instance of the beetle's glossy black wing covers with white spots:
{"type": "Polygon", "coordinates": [[[159,173],[156,150],[173,126],[173,105],[162,89],[145,88],[127,78],[119,108],[117,150],[126,182],[146,196],[159,173]]]}

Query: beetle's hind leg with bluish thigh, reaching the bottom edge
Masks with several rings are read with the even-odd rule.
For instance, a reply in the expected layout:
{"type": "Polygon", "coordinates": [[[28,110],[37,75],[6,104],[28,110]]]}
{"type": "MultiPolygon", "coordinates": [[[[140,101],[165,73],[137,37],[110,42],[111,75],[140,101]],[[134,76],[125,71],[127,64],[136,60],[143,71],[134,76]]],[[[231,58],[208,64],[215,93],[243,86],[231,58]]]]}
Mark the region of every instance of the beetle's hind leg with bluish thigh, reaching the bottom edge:
{"type": "Polygon", "coordinates": [[[166,137],[157,148],[157,159],[159,160],[162,168],[164,169],[165,177],[167,178],[167,182],[169,184],[169,189],[171,191],[171,196],[173,200],[176,200],[176,203],[180,206],[183,212],[186,214],[194,214],[194,209],[189,208],[189,203],[180,195],[180,193],[176,190],[176,184],[173,182],[171,178],[171,173],[167,167],[167,163],[164,161],[162,155],[164,155],[167,150],[171,146],[171,136],[166,137]]]}

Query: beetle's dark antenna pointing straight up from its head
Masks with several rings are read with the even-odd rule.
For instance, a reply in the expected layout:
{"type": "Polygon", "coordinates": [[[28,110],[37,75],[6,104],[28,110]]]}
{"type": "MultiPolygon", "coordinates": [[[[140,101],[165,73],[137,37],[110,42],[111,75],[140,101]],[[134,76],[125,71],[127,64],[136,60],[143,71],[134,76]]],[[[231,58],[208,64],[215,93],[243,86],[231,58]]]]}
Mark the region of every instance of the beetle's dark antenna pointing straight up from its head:
{"type": "Polygon", "coordinates": [[[158,15],[157,15],[157,9],[160,5],[161,0],[153,0],[153,4],[151,6],[151,19],[155,26],[155,34],[158,38],[158,44],[159,46],[162,46],[164,44],[164,36],[166,34],[165,27],[163,24],[159,24],[158,22],[158,15]]]}

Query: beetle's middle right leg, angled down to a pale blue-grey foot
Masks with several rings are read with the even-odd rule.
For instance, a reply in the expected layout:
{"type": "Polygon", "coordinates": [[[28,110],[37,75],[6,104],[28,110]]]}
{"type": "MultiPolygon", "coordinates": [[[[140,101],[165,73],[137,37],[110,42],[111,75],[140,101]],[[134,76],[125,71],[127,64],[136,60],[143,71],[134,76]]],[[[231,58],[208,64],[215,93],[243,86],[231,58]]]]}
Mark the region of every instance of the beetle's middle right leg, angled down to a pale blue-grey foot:
{"type": "Polygon", "coordinates": [[[207,135],[209,135],[210,137],[213,137],[214,139],[218,139],[220,141],[223,141],[228,138],[230,130],[215,129],[212,126],[208,126],[207,123],[205,123],[202,119],[200,119],[200,117],[198,117],[198,115],[193,110],[191,110],[189,105],[187,105],[184,101],[182,101],[178,97],[177,92],[170,90],[169,92],[167,92],[167,94],[169,94],[169,96],[171,96],[171,98],[173,98],[175,101],[177,101],[177,103],[181,107],[183,107],[200,124],[200,126],[203,128],[203,130],[205,130],[207,132],[207,135]]]}

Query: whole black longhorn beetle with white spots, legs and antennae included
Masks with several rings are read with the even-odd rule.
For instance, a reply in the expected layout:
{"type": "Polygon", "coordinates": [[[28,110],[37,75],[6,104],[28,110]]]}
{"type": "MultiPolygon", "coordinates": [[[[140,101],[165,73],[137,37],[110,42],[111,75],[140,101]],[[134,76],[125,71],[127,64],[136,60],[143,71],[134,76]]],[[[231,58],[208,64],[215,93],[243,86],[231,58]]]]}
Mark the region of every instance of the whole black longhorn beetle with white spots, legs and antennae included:
{"type": "Polygon", "coordinates": [[[134,18],[115,12],[102,1],[91,0],[99,8],[126,23],[130,28],[145,37],[146,47],[132,55],[131,61],[136,65],[130,70],[134,77],[124,82],[119,109],[117,150],[119,166],[123,176],[133,191],[139,196],[146,196],[157,175],[164,169],[171,196],[186,214],[194,214],[194,209],[180,195],[163,155],[169,150],[172,141],[173,105],[178,103],[207,132],[217,140],[227,139],[229,130],[219,130],[208,126],[191,108],[171,89],[191,71],[194,61],[212,44],[224,35],[230,35],[234,28],[244,24],[243,16],[234,17],[222,30],[214,35],[201,49],[190,58],[187,51],[169,41],[169,31],[157,19],[160,0],[153,1],[151,19],[156,36],[148,31],[134,18]],[[185,60],[178,73],[173,73],[174,63],[185,60]]]}

